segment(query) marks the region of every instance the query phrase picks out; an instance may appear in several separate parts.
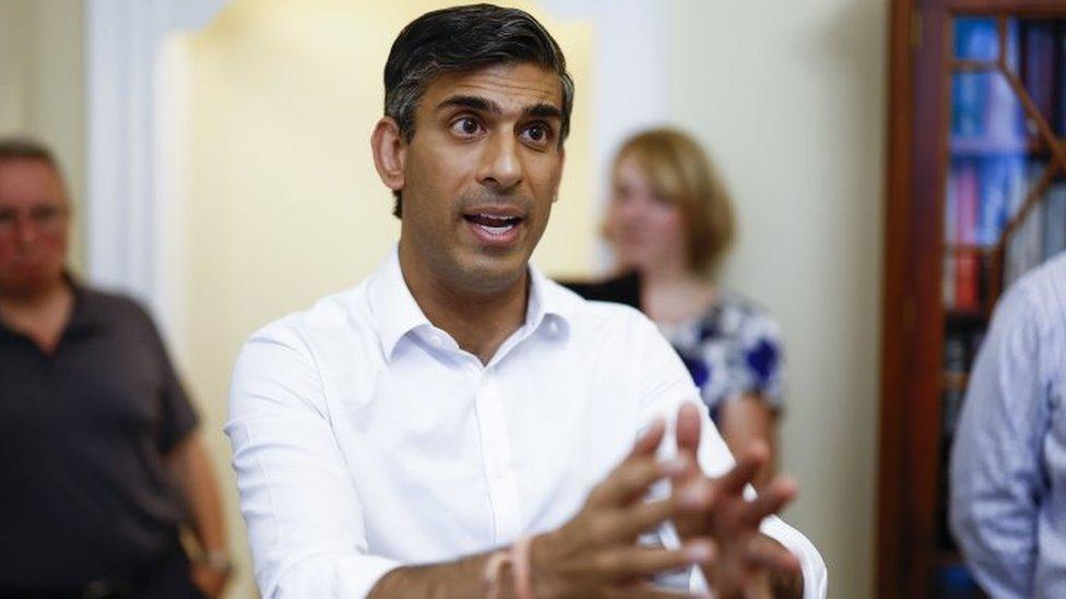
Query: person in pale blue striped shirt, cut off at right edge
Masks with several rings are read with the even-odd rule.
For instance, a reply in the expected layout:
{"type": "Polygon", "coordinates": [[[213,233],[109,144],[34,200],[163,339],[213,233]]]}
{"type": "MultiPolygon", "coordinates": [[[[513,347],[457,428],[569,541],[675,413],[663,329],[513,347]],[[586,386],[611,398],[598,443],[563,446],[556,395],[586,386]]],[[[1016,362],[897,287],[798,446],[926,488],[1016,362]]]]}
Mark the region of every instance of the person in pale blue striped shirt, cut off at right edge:
{"type": "Polygon", "coordinates": [[[990,596],[1066,597],[1066,254],[1004,297],[951,454],[950,524],[990,596]]]}

